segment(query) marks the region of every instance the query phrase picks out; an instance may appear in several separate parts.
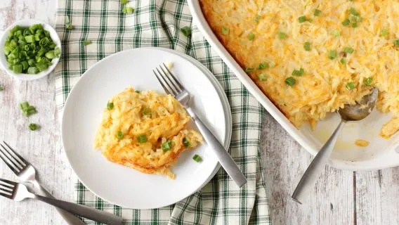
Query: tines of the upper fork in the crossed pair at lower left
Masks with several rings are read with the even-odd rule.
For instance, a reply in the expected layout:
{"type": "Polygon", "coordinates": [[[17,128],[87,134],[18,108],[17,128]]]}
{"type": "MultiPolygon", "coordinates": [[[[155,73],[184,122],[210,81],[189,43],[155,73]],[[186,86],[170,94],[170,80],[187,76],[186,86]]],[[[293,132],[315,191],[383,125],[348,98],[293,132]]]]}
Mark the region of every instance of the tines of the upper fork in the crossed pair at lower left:
{"type": "Polygon", "coordinates": [[[6,141],[3,141],[3,143],[5,146],[0,143],[1,160],[3,160],[15,174],[19,174],[23,169],[25,169],[25,167],[27,167],[27,165],[29,165],[29,163],[16,153],[15,150],[6,143],[6,141]]]}

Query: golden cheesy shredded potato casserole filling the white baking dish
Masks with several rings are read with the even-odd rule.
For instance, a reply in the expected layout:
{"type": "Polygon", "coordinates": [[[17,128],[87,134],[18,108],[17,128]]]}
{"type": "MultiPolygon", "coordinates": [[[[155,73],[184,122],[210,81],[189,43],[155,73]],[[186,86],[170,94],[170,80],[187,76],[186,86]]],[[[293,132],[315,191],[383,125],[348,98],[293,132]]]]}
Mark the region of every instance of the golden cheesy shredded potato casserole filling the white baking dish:
{"type": "Polygon", "coordinates": [[[296,127],[305,122],[314,127],[326,113],[355,104],[376,86],[381,93],[377,108],[392,112],[389,123],[396,124],[389,125],[395,131],[382,136],[388,138],[398,131],[398,1],[200,3],[221,43],[243,69],[254,69],[248,75],[296,127]],[[320,15],[315,15],[316,10],[320,15]],[[301,16],[306,18],[303,23],[301,16]],[[348,19],[350,23],[343,25],[348,19]],[[346,52],[347,47],[353,53],[346,52]],[[329,58],[330,51],[336,51],[336,58],[329,58]],[[261,63],[269,66],[259,68],[261,63]],[[293,75],[301,68],[303,75],[293,75]],[[288,77],[295,79],[294,85],[285,82],[288,77]]]}

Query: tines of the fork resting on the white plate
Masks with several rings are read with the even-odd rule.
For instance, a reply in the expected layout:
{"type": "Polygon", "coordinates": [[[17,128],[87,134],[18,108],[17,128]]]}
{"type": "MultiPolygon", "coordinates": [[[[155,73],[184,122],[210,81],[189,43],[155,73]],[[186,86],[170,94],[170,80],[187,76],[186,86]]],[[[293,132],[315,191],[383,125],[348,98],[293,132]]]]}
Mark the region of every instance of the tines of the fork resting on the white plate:
{"type": "Polygon", "coordinates": [[[183,86],[181,86],[180,82],[176,79],[174,74],[168,69],[168,67],[162,63],[162,65],[159,65],[159,69],[155,68],[155,70],[152,70],[154,72],[155,77],[157,77],[159,84],[162,85],[162,88],[164,88],[166,94],[172,94],[174,96],[178,95],[181,91],[183,91],[183,86]]]}

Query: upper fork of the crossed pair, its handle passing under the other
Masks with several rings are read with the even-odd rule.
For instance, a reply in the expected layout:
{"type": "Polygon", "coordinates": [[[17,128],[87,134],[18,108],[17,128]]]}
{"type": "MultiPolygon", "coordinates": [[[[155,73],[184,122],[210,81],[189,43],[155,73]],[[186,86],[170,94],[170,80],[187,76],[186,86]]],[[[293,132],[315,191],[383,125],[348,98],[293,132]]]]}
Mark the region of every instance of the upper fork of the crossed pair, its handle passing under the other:
{"type": "MultiPolygon", "coordinates": [[[[30,165],[27,160],[25,160],[18,153],[16,153],[15,150],[13,150],[13,148],[8,145],[8,143],[6,143],[5,141],[3,141],[3,143],[5,146],[0,143],[0,153],[4,156],[0,154],[0,158],[15,173],[15,175],[18,176],[18,179],[20,181],[32,184],[34,190],[37,191],[37,193],[49,198],[54,198],[51,193],[48,193],[46,189],[40,186],[39,182],[36,179],[36,169],[34,169],[34,167],[30,165]]],[[[60,210],[58,208],[57,210],[68,224],[84,225],[84,222],[81,221],[81,219],[76,217],[74,214],[70,214],[69,212],[60,210]]]]}

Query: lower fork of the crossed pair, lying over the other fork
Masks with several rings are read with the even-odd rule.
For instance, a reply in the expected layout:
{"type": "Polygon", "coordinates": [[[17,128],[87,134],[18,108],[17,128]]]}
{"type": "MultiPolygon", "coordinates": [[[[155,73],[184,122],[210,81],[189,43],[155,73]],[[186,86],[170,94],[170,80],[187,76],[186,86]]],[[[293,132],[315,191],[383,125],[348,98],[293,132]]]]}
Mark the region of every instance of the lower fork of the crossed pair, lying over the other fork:
{"type": "Polygon", "coordinates": [[[11,198],[15,201],[21,201],[24,200],[25,198],[34,198],[37,200],[41,200],[44,203],[48,203],[55,207],[67,210],[67,212],[70,212],[72,214],[78,214],[79,216],[85,217],[87,219],[92,219],[94,221],[99,221],[105,224],[112,224],[112,225],[122,224],[122,218],[117,217],[115,214],[96,210],[86,205],[68,203],[63,200],[57,200],[55,198],[48,198],[41,195],[35,195],[34,193],[27,191],[25,185],[18,184],[13,181],[8,181],[6,179],[1,179],[1,178],[0,178],[0,195],[6,198],[11,198]]]}

